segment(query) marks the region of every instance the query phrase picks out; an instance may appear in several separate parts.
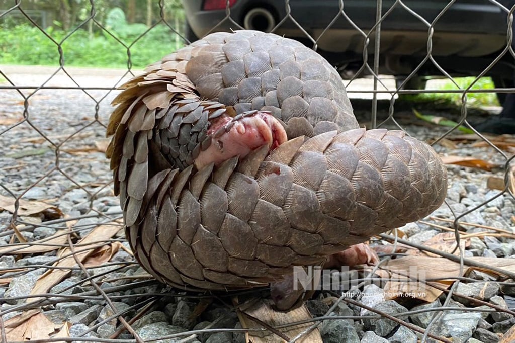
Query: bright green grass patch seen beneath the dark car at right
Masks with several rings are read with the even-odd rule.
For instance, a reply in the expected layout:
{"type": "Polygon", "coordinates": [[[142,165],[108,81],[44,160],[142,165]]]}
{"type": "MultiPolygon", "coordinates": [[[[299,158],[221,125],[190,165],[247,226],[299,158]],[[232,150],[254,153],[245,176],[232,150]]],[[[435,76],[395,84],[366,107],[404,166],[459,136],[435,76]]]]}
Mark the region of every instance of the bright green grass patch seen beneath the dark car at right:
{"type": "MultiPolygon", "coordinates": [[[[475,80],[475,77],[457,77],[454,81],[458,84],[458,87],[452,81],[446,81],[441,85],[438,85],[438,89],[442,91],[446,90],[458,90],[466,89],[475,80]]],[[[479,89],[493,89],[494,84],[490,77],[482,77],[477,80],[472,86],[471,90],[479,89]]],[[[453,102],[455,105],[461,105],[461,93],[422,93],[422,94],[406,94],[403,95],[404,100],[408,101],[441,101],[441,102],[453,102]]],[[[478,106],[499,106],[499,100],[495,93],[467,93],[467,106],[478,107],[478,106]]]]}

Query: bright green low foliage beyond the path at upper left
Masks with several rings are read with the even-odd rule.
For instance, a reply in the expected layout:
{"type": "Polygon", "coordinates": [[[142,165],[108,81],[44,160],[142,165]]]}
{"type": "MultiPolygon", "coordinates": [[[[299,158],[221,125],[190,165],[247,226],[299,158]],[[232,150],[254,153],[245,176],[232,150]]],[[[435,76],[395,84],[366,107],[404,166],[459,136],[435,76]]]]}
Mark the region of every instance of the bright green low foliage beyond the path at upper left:
{"type": "Polygon", "coordinates": [[[59,65],[61,44],[65,66],[126,67],[129,47],[132,66],[142,68],[182,46],[165,25],[159,24],[145,33],[146,25],[127,24],[119,8],[113,8],[106,21],[106,28],[123,43],[99,27],[91,34],[86,27],[80,27],[67,37],[68,32],[55,23],[45,31],[54,42],[29,24],[0,26],[0,64],[59,65]]]}

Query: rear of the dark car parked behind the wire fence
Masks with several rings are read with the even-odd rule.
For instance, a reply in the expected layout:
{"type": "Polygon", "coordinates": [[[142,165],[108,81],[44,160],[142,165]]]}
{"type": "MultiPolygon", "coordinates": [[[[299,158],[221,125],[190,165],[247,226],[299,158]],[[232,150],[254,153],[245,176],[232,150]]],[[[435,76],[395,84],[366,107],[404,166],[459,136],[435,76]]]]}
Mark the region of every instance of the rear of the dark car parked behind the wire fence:
{"type": "MultiPolygon", "coordinates": [[[[402,81],[419,67],[431,48],[438,66],[451,76],[480,75],[506,50],[508,10],[515,1],[499,2],[506,8],[486,0],[383,1],[379,73],[402,81]]],[[[290,0],[289,7],[277,0],[183,0],[186,38],[192,41],[209,32],[242,27],[273,30],[315,47],[343,77],[356,73],[363,76],[364,60],[373,64],[375,30],[370,31],[376,27],[376,1],[344,0],[342,4],[340,11],[337,0],[290,0]],[[226,18],[227,10],[230,19],[226,18]]],[[[406,88],[424,88],[427,78],[444,76],[438,66],[427,59],[406,88]]],[[[496,87],[515,87],[514,70],[513,56],[507,52],[487,76],[492,77],[496,87]]]]}

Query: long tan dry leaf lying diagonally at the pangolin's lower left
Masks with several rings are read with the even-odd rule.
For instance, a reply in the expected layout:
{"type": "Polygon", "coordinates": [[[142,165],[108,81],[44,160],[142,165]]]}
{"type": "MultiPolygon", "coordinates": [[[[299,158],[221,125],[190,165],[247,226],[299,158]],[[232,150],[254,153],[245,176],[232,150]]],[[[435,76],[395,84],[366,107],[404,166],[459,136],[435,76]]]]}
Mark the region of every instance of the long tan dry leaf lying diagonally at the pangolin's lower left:
{"type": "MultiPolygon", "coordinates": [[[[97,226],[93,230],[88,233],[87,236],[82,238],[77,244],[81,245],[80,252],[77,252],[75,255],[78,260],[84,261],[85,258],[90,256],[96,248],[101,247],[103,244],[101,243],[92,243],[92,242],[105,242],[108,239],[112,238],[119,230],[122,229],[122,226],[116,225],[101,225],[97,226]]],[[[62,249],[58,255],[70,255],[70,248],[62,249]]],[[[66,258],[61,259],[54,266],[58,267],[68,267],[72,268],[76,266],[76,262],[73,256],[68,256],[66,258]]],[[[38,295],[42,293],[48,293],[48,290],[54,287],[56,284],[61,282],[72,270],[71,269],[49,269],[45,272],[36,282],[34,288],[32,288],[30,294],[38,295]]],[[[29,298],[27,302],[35,302],[39,301],[42,298],[29,298]]]]}

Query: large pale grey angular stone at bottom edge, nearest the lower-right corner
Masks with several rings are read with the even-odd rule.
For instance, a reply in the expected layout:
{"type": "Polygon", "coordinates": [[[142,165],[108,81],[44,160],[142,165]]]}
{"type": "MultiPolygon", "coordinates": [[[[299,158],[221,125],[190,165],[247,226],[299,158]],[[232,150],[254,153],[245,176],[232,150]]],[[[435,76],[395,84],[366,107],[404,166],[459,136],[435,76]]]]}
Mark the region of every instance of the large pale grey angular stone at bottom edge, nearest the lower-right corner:
{"type": "Polygon", "coordinates": [[[431,332],[444,337],[452,337],[453,342],[456,343],[465,343],[472,337],[480,319],[481,314],[477,312],[448,313],[438,320],[431,332]]]}

